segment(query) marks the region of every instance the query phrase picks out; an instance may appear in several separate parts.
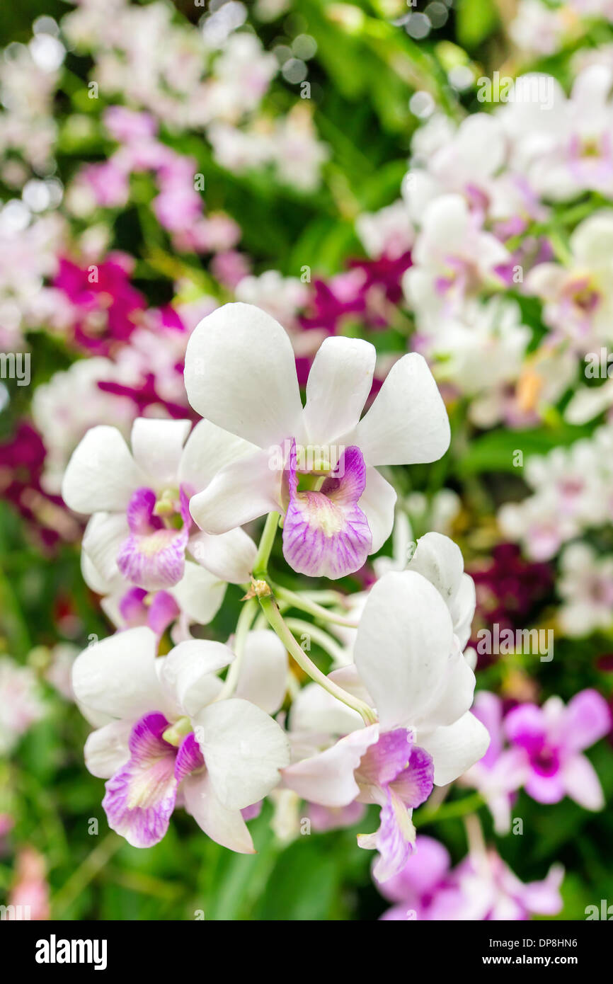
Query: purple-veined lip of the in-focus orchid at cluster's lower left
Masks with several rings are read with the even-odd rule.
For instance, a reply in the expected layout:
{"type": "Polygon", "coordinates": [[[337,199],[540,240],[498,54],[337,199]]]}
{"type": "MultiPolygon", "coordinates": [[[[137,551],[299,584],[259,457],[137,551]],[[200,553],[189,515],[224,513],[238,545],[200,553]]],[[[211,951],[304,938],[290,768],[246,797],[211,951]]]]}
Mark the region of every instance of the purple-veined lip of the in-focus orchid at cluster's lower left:
{"type": "Polygon", "coordinates": [[[174,809],[176,749],[164,741],[163,714],[146,714],[130,735],[130,759],[106,782],[102,808],[108,826],[133,847],[151,847],[164,836],[174,809]]]}

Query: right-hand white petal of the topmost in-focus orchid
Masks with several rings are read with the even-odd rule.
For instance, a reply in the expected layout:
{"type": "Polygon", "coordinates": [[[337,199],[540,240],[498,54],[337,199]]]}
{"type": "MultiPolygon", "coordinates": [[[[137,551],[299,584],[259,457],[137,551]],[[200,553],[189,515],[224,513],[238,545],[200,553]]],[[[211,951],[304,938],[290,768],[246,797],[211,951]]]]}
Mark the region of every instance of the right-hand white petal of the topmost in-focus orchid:
{"type": "Polygon", "coordinates": [[[357,444],[367,464],[437,461],[450,442],[445,403],[421,355],[398,359],[366,416],[357,444]]]}

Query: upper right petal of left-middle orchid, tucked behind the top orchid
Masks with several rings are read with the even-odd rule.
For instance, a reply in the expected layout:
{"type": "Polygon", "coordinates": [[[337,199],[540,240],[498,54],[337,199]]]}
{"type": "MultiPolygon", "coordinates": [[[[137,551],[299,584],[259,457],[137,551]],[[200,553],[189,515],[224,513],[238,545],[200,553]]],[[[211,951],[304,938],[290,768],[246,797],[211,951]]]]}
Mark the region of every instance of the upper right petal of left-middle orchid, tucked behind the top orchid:
{"type": "Polygon", "coordinates": [[[179,463],[179,482],[200,492],[226,464],[257,450],[254,444],[221,430],[210,420],[201,420],[185,443],[179,463]]]}

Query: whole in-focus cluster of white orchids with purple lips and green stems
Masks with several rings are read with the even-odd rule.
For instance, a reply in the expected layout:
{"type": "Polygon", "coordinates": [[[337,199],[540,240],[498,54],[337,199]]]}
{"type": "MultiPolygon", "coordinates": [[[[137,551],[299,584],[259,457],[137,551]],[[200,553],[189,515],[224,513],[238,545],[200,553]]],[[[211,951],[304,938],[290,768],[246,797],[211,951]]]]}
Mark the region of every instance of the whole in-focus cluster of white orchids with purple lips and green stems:
{"type": "Polygon", "coordinates": [[[136,846],[163,836],[179,796],[217,842],[253,850],[241,811],[282,781],[329,809],[377,803],[379,830],[359,843],[378,849],[375,874],[391,878],[414,844],[412,810],[485,752],[462,652],[474,588],[452,541],[423,537],[408,571],[371,587],[353,660],[329,676],[278,601],[332,622],[334,611],[269,580],[279,523],[296,573],[337,581],[359,571],[394,523],[396,493],[377,465],[436,460],[449,444],[417,354],[395,364],[360,418],[374,359],[366,341],[327,339],[303,406],[281,326],[251,305],[224,305],[186,354],[188,397],[205,419],[190,432],[189,420],[139,417],[130,450],[116,429],[93,427],[68,464],[64,501],[92,514],[84,575],[120,629],[77,658],[73,686],[100,725],[86,759],[109,777],[109,825],[136,846]],[[256,548],[242,527],[265,514],[256,548]],[[233,643],[199,640],[191,629],[211,621],[227,584],[251,584],[233,643]],[[272,631],[253,631],[255,598],[272,631]],[[171,625],[177,645],[158,657],[171,625]],[[272,716],[288,687],[286,650],[322,691],[297,695],[287,733],[272,716]]]}

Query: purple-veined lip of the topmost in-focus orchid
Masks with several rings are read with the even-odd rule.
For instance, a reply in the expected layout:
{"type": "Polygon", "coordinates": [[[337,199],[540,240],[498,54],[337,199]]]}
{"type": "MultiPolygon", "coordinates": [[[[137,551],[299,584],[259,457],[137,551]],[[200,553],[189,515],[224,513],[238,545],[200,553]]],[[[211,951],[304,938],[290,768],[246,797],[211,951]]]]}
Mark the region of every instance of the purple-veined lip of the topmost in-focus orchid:
{"type": "Polygon", "coordinates": [[[357,505],[365,474],[359,449],[347,448],[319,492],[299,492],[292,441],[283,555],[294,571],[337,580],[364,565],[372,547],[368,522],[357,505]]]}

